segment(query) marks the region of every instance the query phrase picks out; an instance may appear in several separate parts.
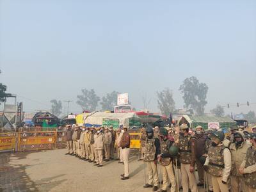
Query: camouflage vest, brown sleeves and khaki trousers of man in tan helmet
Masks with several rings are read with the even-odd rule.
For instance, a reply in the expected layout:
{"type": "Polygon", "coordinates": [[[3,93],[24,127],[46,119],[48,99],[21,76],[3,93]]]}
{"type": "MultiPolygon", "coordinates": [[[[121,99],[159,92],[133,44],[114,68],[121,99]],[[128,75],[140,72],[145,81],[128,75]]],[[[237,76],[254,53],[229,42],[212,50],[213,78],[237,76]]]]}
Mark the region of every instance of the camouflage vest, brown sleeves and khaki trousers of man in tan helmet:
{"type": "Polygon", "coordinates": [[[182,188],[184,192],[197,192],[195,172],[189,172],[189,167],[195,168],[195,141],[191,135],[179,137],[180,172],[182,177],[182,188]]]}

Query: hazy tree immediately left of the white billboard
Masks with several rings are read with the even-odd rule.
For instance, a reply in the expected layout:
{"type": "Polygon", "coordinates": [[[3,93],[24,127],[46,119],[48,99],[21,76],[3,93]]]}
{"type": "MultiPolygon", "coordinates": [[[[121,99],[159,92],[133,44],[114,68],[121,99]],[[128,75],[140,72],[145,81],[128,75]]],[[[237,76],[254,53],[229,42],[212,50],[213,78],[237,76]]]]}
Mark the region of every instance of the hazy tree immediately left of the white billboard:
{"type": "Polygon", "coordinates": [[[112,93],[107,93],[106,96],[102,97],[102,101],[100,104],[102,105],[103,111],[111,111],[114,110],[114,106],[116,106],[117,101],[117,94],[119,94],[116,91],[113,91],[112,93]]]}

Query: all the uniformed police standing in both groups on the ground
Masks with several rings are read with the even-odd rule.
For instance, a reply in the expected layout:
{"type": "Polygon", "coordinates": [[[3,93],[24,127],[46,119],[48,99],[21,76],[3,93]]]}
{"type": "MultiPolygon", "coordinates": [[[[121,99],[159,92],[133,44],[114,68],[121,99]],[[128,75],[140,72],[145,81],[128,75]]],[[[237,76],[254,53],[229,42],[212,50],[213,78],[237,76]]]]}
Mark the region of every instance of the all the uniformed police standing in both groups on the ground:
{"type": "MultiPolygon", "coordinates": [[[[129,179],[130,142],[127,127],[114,131],[113,127],[67,125],[67,154],[101,167],[103,156],[104,161],[113,160],[116,151],[118,163],[124,164],[122,180],[129,179]]],[[[168,129],[147,125],[141,128],[140,144],[139,160],[147,166],[143,188],[256,191],[256,127],[250,133],[231,127],[230,135],[225,135],[221,129],[204,130],[201,126],[192,131],[187,124],[168,129]]]]}

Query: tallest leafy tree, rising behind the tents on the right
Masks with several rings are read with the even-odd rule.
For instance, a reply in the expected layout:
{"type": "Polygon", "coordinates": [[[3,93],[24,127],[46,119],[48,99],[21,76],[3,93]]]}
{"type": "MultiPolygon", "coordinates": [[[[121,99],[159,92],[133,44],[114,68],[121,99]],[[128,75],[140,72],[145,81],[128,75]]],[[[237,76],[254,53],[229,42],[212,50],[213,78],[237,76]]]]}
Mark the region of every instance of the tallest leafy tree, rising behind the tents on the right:
{"type": "Polygon", "coordinates": [[[183,81],[179,90],[183,94],[184,108],[193,109],[196,115],[204,115],[204,107],[207,104],[207,84],[199,83],[196,77],[189,77],[183,81]]]}

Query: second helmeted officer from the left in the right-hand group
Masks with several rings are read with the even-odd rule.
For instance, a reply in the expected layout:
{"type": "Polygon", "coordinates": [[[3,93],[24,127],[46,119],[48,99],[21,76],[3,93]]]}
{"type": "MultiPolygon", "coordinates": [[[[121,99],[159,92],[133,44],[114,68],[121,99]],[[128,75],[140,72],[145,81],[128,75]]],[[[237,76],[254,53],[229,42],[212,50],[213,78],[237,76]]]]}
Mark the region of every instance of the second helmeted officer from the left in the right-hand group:
{"type": "Polygon", "coordinates": [[[161,169],[163,173],[163,186],[160,191],[167,191],[169,179],[171,182],[171,192],[175,192],[176,180],[172,166],[172,159],[169,154],[169,148],[172,146],[173,141],[168,140],[168,131],[164,129],[164,127],[159,129],[159,137],[161,154],[159,154],[157,157],[161,163],[161,169]]]}

